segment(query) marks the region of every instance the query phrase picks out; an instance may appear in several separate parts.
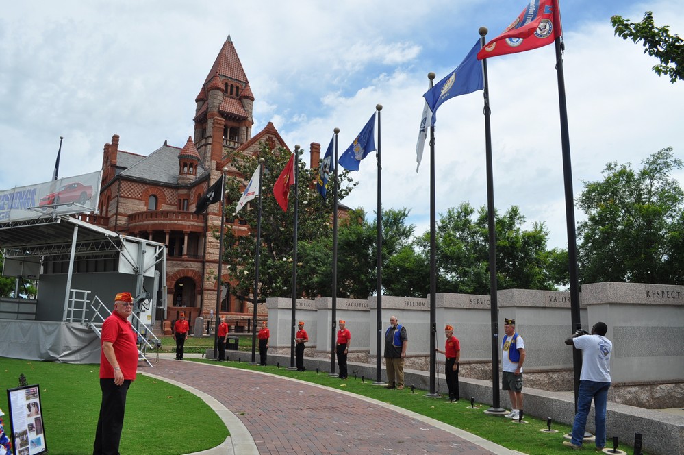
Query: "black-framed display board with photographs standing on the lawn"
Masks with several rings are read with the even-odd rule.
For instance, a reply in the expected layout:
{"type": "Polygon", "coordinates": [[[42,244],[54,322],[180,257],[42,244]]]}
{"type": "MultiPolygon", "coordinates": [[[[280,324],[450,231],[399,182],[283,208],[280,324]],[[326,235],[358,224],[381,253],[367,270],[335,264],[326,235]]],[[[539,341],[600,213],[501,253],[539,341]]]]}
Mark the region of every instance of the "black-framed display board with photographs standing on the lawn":
{"type": "Polygon", "coordinates": [[[8,389],[7,401],[10,405],[12,452],[14,455],[47,453],[38,384],[8,389]]]}

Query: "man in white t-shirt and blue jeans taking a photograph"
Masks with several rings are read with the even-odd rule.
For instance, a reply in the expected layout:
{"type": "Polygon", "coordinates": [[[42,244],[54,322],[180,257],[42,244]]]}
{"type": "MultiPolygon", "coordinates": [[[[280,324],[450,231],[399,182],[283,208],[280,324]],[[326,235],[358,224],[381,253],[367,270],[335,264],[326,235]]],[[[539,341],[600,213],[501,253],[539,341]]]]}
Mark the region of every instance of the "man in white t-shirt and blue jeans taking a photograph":
{"type": "Polygon", "coordinates": [[[579,376],[579,393],[577,394],[577,414],[572,425],[572,439],[563,441],[563,445],[578,449],[582,447],[587,416],[592,408],[596,413],[596,448],[606,445],[606,407],[608,389],[610,389],[610,354],[613,343],[605,337],[608,326],[597,322],[592,327],[592,334],[585,330],[577,330],[566,340],[566,345],[574,345],[582,349],[582,373],[579,376]]]}

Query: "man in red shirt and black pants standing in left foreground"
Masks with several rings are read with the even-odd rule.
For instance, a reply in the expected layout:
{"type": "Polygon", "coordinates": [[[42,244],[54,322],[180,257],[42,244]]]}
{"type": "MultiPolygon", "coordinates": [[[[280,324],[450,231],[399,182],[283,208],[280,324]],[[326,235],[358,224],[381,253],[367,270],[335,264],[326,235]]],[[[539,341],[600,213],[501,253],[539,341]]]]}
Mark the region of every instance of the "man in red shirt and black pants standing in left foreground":
{"type": "Polygon", "coordinates": [[[118,293],[114,298],[114,312],[102,324],[102,403],[97,419],[93,455],[118,454],[126,394],[138,371],[138,337],[128,321],[132,312],[131,293],[118,293]]]}

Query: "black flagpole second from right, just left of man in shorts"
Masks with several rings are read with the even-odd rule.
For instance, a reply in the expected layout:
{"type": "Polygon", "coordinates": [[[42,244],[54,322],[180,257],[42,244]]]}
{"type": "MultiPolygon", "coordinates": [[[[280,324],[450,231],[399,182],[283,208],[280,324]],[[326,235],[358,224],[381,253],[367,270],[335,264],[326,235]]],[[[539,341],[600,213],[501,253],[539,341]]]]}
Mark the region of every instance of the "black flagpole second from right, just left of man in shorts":
{"type": "MultiPolygon", "coordinates": [[[[480,27],[480,47],[485,46],[487,27],[480,27]]],[[[482,59],[482,75],[484,79],[483,96],[485,99],[485,155],[487,157],[487,224],[490,243],[490,301],[492,326],[492,407],[488,413],[505,413],[501,408],[498,390],[498,292],[496,289],[496,220],[494,219],[494,172],[492,171],[492,126],[490,124],[490,85],[487,77],[487,59],[482,59]]]]}

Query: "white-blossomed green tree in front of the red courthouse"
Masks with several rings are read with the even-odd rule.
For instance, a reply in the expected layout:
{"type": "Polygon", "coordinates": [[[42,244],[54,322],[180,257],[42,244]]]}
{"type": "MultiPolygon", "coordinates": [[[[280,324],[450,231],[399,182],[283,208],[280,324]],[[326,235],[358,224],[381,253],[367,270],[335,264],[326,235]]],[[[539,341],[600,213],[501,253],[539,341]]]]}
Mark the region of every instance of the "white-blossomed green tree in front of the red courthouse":
{"type": "MultiPolygon", "coordinates": [[[[227,179],[227,222],[234,223],[244,230],[229,229],[225,232],[224,261],[227,264],[227,274],[236,282],[231,287],[234,295],[246,297],[253,291],[255,278],[255,246],[257,234],[257,204],[253,199],[249,206],[240,210],[233,219],[236,204],[244,184],[244,175],[252,175],[259,165],[259,158],[264,158],[267,171],[262,176],[262,247],[259,254],[259,297],[290,297],[292,295],[292,252],[294,249],[294,188],[290,190],[290,204],[288,211],[283,212],[273,196],[273,185],[281,171],[286,166],[290,153],[283,147],[270,149],[262,143],[259,153],[255,156],[244,156],[242,153],[232,153],[231,167],[239,175],[227,179]]],[[[301,154],[302,151],[300,150],[301,154]]],[[[330,199],[323,201],[312,182],[316,179],[317,169],[307,169],[298,160],[299,181],[297,191],[299,197],[298,223],[298,262],[303,260],[299,256],[303,244],[316,241],[318,238],[331,236],[332,204],[330,199]]],[[[344,199],[349,195],[355,182],[349,178],[349,171],[343,171],[338,177],[338,197],[344,199]]],[[[218,233],[216,234],[218,235],[218,233]]],[[[307,252],[303,248],[303,252],[307,252]]],[[[299,270],[299,269],[298,269],[299,270]]],[[[299,273],[299,271],[298,271],[299,273]]],[[[297,296],[301,297],[302,290],[297,289],[297,296]]]]}

